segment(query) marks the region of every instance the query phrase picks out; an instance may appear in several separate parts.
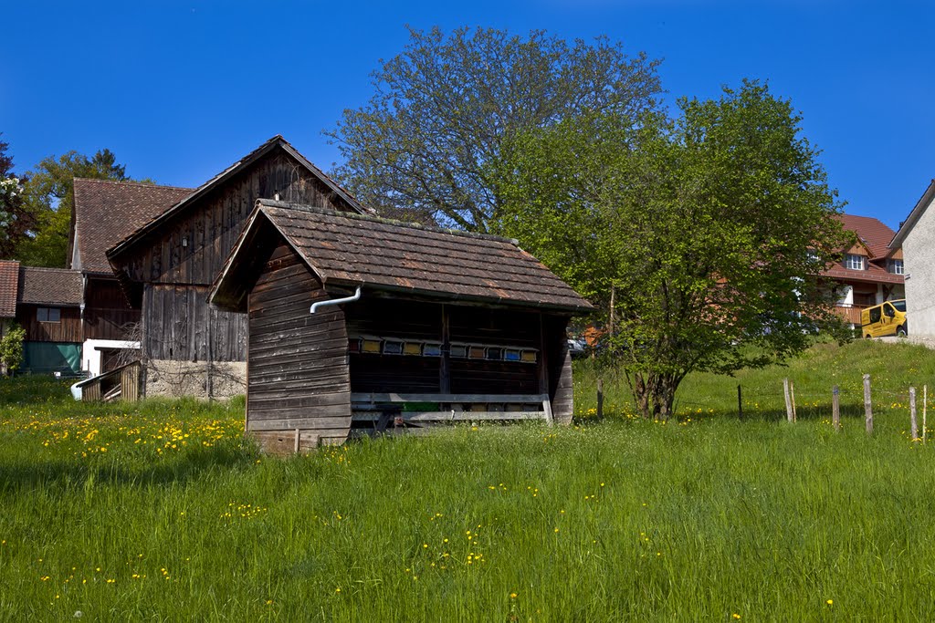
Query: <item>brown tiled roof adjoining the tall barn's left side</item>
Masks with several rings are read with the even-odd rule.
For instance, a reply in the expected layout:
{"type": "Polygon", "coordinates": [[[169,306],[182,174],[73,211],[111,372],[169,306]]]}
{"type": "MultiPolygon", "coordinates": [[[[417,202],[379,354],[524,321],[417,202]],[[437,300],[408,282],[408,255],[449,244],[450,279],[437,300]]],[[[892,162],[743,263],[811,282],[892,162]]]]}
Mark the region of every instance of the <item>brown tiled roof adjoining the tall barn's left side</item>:
{"type": "Polygon", "coordinates": [[[174,186],[76,177],[72,244],[78,245],[80,265],[73,268],[110,273],[108,248],[191,193],[174,186]]]}

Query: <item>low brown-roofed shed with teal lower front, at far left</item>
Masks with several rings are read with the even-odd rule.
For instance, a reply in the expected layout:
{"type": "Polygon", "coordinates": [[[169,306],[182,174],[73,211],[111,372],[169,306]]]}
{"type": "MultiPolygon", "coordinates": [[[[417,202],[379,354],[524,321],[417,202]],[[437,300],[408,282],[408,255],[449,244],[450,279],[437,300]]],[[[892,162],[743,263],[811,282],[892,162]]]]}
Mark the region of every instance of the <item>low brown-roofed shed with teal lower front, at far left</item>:
{"type": "Polygon", "coordinates": [[[81,369],[81,273],[20,266],[16,321],[26,332],[23,372],[81,369]]]}

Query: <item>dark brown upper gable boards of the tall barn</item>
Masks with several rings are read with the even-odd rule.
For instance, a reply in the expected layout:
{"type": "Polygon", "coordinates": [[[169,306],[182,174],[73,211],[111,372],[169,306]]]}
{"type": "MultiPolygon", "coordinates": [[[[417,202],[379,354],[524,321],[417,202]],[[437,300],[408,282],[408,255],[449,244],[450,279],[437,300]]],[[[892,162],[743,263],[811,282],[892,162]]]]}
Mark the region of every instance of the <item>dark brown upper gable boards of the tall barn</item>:
{"type": "Polygon", "coordinates": [[[215,191],[189,205],[138,245],[128,276],[138,282],[208,286],[224,261],[257,199],[347,209],[333,191],[282,151],[253,163],[215,191]]]}

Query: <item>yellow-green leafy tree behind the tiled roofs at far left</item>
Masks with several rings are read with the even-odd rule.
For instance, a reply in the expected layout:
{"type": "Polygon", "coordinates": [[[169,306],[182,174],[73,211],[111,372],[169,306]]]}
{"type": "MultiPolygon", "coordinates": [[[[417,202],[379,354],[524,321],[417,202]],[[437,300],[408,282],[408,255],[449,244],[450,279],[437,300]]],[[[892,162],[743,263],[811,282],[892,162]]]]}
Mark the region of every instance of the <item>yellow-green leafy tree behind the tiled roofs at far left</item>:
{"type": "Polygon", "coordinates": [[[28,265],[62,267],[68,254],[68,234],[75,202],[75,177],[123,181],[124,165],[109,149],[89,158],[77,151],[49,156],[36,164],[25,185],[25,201],[36,225],[16,248],[17,258],[28,265]]]}

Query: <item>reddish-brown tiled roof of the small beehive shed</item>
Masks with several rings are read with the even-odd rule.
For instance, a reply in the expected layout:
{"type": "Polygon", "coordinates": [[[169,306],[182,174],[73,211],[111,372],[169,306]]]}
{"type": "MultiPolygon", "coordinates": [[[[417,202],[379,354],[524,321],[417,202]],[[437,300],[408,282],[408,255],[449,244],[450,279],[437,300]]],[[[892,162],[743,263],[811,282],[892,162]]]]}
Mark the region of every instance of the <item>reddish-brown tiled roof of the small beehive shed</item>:
{"type": "Polygon", "coordinates": [[[215,283],[215,303],[230,293],[223,290],[237,287],[225,285],[225,280],[234,281],[225,276],[261,215],[325,284],[572,312],[592,309],[515,241],[268,200],[257,202],[257,211],[215,283]]]}

